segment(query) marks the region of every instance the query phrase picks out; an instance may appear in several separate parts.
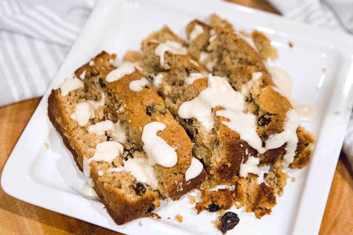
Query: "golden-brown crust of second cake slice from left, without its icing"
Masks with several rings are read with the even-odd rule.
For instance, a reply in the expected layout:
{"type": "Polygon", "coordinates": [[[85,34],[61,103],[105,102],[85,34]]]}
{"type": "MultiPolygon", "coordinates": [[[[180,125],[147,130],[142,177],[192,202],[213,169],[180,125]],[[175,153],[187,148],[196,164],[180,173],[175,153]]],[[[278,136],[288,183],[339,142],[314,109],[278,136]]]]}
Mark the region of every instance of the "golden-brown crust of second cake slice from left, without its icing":
{"type": "MultiPolygon", "coordinates": [[[[202,164],[198,163],[201,167],[199,168],[200,172],[197,172],[197,175],[193,175],[192,178],[187,179],[186,177],[186,172],[193,160],[192,143],[189,137],[165,107],[163,99],[153,86],[149,82],[143,82],[147,80],[143,78],[138,69],[115,81],[108,79],[109,82],[107,78],[112,73],[114,73],[113,68],[110,68],[102,72],[102,75],[105,77],[104,83],[108,93],[112,94],[113,106],[111,108],[118,110],[116,115],[127,124],[128,142],[136,146],[146,146],[146,141],[143,140],[146,126],[153,123],[165,125],[165,129],[158,131],[157,136],[174,149],[177,162],[173,166],[155,164],[154,170],[161,194],[172,200],[178,200],[185,193],[197,188],[207,176],[202,164]],[[139,82],[143,82],[143,85],[138,85],[139,82]],[[137,88],[133,88],[134,85],[137,85],[137,88]]],[[[163,152],[159,154],[163,156],[165,154],[163,152]]]]}

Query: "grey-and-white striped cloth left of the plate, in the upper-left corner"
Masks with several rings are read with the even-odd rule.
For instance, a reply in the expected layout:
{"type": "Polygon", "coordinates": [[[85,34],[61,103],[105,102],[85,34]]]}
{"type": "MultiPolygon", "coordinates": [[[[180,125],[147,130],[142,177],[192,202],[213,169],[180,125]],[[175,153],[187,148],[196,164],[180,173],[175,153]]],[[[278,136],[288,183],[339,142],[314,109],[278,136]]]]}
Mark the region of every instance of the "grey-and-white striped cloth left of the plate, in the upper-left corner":
{"type": "Polygon", "coordinates": [[[95,0],[0,0],[0,106],[46,91],[95,0]]]}

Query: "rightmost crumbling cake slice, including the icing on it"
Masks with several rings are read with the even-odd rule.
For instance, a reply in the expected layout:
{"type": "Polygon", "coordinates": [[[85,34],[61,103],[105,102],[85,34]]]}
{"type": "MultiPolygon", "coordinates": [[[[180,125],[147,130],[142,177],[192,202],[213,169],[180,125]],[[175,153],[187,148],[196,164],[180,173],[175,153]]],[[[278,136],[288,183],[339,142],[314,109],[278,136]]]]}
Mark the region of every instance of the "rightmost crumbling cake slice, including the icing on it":
{"type": "Polygon", "coordinates": [[[186,33],[190,38],[188,51],[194,59],[197,58],[213,74],[229,78],[232,87],[244,96],[245,113],[253,115],[251,122],[222,112],[230,120],[228,125],[257,152],[260,164],[275,166],[265,179],[282,194],[286,185],[282,168],[306,166],[313,137],[300,126],[298,113],[274,85],[265,66],[264,58],[277,56],[275,48],[262,33],[254,31],[252,37],[245,36],[235,32],[228,21],[216,15],[210,16],[210,25],[191,21],[186,33]],[[198,31],[196,37],[194,30],[198,31]],[[249,131],[242,134],[237,120],[252,125],[252,134],[249,131]]]}

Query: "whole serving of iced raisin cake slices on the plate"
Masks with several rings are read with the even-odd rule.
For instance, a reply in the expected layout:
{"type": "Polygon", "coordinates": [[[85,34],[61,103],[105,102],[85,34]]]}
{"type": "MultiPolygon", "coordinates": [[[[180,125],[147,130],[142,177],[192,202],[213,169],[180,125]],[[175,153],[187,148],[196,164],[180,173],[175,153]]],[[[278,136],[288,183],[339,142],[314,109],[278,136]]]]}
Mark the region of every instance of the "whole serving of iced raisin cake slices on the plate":
{"type": "Polygon", "coordinates": [[[118,67],[102,52],[52,91],[48,116],[116,223],[198,188],[197,213],[217,212],[224,234],[239,223],[232,206],[271,213],[282,169],[306,166],[313,138],[265,66],[277,58],[267,37],[216,15],[186,33],[164,26],[118,67]]]}

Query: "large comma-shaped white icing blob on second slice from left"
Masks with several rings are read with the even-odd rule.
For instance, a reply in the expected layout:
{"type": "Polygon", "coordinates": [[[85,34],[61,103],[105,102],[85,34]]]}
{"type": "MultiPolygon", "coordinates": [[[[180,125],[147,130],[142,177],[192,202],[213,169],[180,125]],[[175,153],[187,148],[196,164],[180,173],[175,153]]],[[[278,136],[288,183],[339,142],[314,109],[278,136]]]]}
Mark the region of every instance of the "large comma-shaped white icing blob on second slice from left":
{"type": "Polygon", "coordinates": [[[157,136],[157,131],[164,129],[166,129],[166,125],[161,122],[151,122],[145,125],[142,132],[143,150],[148,156],[150,165],[159,164],[164,167],[173,167],[178,161],[177,153],[166,141],[157,136]]]}

